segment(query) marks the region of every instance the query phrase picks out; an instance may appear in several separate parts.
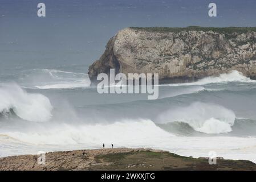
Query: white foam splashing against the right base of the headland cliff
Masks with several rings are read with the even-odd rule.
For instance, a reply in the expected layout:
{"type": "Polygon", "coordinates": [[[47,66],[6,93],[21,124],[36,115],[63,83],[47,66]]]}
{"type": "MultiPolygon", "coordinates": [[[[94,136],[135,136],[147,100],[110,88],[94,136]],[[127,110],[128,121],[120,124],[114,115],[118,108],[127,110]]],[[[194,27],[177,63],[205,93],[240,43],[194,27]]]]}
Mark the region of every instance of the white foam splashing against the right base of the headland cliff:
{"type": "Polygon", "coordinates": [[[168,84],[168,86],[189,86],[189,85],[206,85],[222,82],[256,82],[242,75],[238,71],[232,71],[230,73],[224,73],[217,77],[206,77],[196,82],[182,83],[182,84],[168,84]]]}

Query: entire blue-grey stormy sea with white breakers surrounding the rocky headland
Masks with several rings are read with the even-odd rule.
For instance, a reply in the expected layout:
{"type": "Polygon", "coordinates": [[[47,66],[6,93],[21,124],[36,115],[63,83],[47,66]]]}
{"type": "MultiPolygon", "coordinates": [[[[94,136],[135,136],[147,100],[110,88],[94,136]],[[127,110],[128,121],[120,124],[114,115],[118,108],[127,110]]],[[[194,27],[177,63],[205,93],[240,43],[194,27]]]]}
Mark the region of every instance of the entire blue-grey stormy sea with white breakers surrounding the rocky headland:
{"type": "Polygon", "coordinates": [[[1,1],[0,157],[113,143],[256,163],[255,80],[233,71],[159,85],[159,98],[148,100],[99,94],[87,75],[122,28],[255,26],[255,3],[240,2],[250,9],[238,14],[218,1],[222,19],[209,21],[201,1],[44,2],[46,18],[38,18],[36,1],[1,1]]]}

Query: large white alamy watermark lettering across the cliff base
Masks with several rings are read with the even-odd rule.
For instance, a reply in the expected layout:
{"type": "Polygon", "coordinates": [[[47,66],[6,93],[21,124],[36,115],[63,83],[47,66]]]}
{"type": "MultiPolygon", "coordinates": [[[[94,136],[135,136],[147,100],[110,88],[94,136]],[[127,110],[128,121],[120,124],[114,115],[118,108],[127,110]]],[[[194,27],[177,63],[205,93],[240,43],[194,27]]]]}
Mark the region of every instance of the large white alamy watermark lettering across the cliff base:
{"type": "Polygon", "coordinates": [[[115,75],[115,69],[110,69],[109,76],[106,73],[97,75],[97,92],[117,94],[148,93],[148,100],[156,100],[159,97],[158,73],[124,73],[115,75]],[[128,82],[128,84],[127,84],[128,82]]]}

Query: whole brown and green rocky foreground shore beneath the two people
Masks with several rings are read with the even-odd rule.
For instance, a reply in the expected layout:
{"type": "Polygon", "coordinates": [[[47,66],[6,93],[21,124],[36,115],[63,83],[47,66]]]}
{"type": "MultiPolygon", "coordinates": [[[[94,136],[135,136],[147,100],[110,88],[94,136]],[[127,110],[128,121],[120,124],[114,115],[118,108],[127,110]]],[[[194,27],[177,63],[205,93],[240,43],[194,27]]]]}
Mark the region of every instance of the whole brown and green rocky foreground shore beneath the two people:
{"type": "Polygon", "coordinates": [[[38,165],[36,155],[0,158],[0,170],[256,170],[247,160],[194,159],[149,149],[115,148],[50,152],[46,164],[38,165]]]}

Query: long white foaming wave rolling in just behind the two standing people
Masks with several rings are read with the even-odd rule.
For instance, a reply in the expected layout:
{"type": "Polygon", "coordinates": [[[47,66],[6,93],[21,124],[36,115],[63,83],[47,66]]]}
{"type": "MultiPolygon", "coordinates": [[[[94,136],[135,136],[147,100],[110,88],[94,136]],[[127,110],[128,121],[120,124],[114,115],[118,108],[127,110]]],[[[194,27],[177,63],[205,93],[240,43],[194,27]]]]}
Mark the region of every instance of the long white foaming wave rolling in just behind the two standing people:
{"type": "Polygon", "coordinates": [[[69,125],[61,123],[41,130],[1,132],[11,138],[31,144],[88,144],[104,142],[129,143],[135,140],[147,143],[159,137],[174,135],[160,129],[149,119],[122,120],[115,123],[96,125],[69,125]]]}

